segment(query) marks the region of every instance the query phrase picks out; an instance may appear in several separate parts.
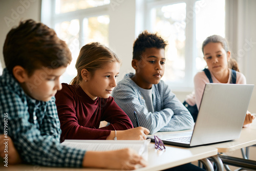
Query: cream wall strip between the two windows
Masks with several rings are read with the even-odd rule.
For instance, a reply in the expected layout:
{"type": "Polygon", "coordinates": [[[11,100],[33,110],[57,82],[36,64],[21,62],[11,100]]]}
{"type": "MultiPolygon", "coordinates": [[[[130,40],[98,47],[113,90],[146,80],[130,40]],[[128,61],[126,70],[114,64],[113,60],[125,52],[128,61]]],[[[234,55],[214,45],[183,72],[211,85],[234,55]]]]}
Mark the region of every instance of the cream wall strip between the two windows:
{"type": "MultiPolygon", "coordinates": [[[[118,1],[116,1],[118,2],[118,1]]],[[[133,42],[135,40],[136,1],[120,1],[118,5],[110,8],[110,48],[122,60],[120,74],[121,80],[126,73],[134,72],[132,68],[133,42]]]]}

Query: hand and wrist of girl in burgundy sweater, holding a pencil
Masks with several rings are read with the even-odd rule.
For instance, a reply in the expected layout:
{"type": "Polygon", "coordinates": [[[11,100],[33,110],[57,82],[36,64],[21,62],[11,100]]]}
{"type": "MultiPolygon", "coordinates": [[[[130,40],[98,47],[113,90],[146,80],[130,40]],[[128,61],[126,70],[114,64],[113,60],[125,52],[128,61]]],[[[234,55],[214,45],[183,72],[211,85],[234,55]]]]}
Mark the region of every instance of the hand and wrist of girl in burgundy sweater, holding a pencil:
{"type": "Polygon", "coordinates": [[[150,131],[145,127],[135,127],[134,129],[117,131],[117,140],[145,140],[146,135],[149,134],[150,131]]]}

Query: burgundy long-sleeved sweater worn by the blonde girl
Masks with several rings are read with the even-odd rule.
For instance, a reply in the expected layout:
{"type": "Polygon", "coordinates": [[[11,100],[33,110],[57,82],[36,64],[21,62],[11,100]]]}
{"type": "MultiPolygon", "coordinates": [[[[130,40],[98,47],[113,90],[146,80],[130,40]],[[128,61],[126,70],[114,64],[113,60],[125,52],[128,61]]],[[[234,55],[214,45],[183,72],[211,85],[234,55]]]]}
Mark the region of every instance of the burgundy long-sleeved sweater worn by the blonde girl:
{"type": "Polygon", "coordinates": [[[106,139],[111,130],[133,128],[130,118],[113,97],[92,100],[80,86],[62,83],[55,95],[60,120],[60,141],[65,139],[106,139]],[[100,121],[110,125],[99,128],[100,121]]]}

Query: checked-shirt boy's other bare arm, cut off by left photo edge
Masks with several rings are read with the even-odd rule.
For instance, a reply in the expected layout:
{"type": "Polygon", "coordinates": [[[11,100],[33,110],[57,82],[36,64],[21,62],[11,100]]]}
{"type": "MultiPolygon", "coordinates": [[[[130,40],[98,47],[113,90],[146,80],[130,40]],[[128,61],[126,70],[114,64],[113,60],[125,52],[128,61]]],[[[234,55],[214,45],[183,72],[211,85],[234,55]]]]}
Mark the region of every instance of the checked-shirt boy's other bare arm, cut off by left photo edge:
{"type": "Polygon", "coordinates": [[[12,139],[10,137],[5,138],[5,135],[2,134],[0,135],[0,157],[5,158],[6,154],[8,155],[9,164],[18,164],[22,162],[16,148],[13,145],[12,139]],[[9,140],[6,141],[5,139],[9,140]]]}

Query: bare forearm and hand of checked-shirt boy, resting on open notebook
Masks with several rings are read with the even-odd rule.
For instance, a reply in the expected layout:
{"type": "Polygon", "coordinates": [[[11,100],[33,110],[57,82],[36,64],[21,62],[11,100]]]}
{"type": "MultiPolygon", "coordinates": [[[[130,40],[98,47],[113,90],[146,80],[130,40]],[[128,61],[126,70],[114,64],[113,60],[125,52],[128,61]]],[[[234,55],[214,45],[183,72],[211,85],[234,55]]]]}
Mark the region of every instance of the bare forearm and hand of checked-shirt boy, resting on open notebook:
{"type": "Polygon", "coordinates": [[[86,152],[83,166],[133,170],[139,166],[145,167],[146,161],[133,149],[124,148],[116,151],[86,152]]]}

